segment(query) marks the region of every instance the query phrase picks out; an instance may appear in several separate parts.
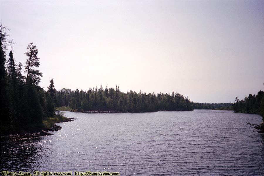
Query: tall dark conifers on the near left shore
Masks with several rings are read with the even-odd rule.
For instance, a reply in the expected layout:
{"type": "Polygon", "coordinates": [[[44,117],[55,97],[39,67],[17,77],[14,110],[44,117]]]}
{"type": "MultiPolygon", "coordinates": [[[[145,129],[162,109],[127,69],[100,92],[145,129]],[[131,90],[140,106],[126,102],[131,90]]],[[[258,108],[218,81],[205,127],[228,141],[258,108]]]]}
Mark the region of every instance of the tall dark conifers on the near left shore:
{"type": "Polygon", "coordinates": [[[1,133],[29,132],[42,128],[43,118],[54,116],[54,102],[50,94],[38,86],[42,73],[35,70],[40,65],[38,50],[29,44],[26,55],[27,77],[22,75],[22,64],[16,65],[12,51],[6,61],[6,50],[12,49],[9,31],[1,25],[1,133]],[[32,53],[31,53],[32,52],[32,53]]]}

